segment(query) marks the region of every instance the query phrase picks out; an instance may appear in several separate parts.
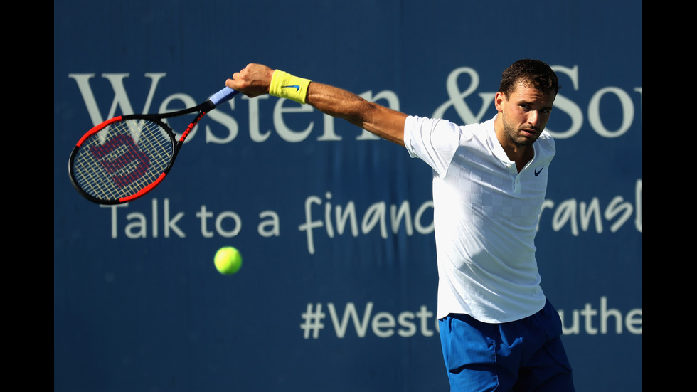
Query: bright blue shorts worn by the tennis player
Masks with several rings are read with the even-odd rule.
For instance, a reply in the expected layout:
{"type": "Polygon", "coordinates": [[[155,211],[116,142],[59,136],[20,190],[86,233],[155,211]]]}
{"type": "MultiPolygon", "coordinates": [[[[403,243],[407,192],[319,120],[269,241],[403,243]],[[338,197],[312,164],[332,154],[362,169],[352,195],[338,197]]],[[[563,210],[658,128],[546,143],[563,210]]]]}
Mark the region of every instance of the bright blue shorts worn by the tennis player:
{"type": "Polygon", "coordinates": [[[450,391],[574,391],[561,319],[550,302],[516,322],[449,314],[439,326],[450,391]]]}

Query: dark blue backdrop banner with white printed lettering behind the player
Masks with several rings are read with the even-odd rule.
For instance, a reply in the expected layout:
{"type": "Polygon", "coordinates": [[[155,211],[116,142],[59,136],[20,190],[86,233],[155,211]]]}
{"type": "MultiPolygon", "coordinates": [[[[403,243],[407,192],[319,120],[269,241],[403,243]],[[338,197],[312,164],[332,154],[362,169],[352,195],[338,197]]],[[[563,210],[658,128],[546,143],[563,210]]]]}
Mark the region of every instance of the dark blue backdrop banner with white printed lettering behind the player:
{"type": "Polygon", "coordinates": [[[136,201],[85,200],[68,157],[248,63],[480,122],[519,58],[562,85],[536,246],[576,387],[641,391],[640,1],[55,0],[53,30],[54,391],[447,391],[431,170],[402,147],[240,95],[136,201]]]}

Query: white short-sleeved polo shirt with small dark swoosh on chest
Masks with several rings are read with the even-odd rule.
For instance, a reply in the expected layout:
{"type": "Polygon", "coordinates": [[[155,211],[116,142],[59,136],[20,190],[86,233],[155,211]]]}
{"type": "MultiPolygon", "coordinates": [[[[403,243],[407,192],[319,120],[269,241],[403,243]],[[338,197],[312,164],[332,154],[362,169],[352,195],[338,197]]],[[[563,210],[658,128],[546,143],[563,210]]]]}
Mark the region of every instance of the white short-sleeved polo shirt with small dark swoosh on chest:
{"type": "Polygon", "coordinates": [[[464,313],[511,322],[545,305],[535,235],[554,140],[543,131],[518,173],[496,139],[494,119],[458,126],[408,117],[405,123],[410,156],[433,169],[439,319],[464,313]]]}

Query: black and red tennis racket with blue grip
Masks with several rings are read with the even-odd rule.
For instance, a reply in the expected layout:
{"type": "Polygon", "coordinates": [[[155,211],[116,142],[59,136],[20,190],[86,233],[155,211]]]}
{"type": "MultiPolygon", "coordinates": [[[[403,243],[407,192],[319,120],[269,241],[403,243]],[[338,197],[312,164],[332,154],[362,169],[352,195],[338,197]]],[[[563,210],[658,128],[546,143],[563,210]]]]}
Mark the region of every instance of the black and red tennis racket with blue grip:
{"type": "Polygon", "coordinates": [[[233,99],[223,88],[206,102],[158,115],[123,115],[106,120],[83,136],[70,154],[70,181],[87,200],[127,203],[154,189],[174,164],[184,140],[207,112],[233,99]],[[198,112],[179,140],[164,119],[198,112]]]}

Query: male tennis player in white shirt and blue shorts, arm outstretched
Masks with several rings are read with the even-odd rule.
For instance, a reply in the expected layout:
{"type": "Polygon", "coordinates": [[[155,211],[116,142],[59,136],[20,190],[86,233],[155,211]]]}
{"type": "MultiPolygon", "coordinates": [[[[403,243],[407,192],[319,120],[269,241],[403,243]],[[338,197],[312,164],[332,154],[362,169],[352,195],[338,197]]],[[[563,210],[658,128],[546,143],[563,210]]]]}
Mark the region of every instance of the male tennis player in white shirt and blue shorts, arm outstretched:
{"type": "Polygon", "coordinates": [[[543,293],[535,235],[555,143],[545,126],[553,70],[504,70],[497,113],[459,126],[405,115],[265,65],[225,83],[250,97],[308,104],[406,148],[433,169],[437,318],[451,391],[574,391],[561,320],[543,293]]]}

